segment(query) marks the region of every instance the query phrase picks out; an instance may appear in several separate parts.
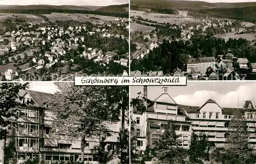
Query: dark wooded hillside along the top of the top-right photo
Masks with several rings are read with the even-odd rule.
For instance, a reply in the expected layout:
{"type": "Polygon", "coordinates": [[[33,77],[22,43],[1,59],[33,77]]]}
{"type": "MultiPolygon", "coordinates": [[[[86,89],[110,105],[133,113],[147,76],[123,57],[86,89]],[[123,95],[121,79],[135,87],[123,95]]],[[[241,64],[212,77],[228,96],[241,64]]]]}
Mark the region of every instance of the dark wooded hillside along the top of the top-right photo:
{"type": "Polygon", "coordinates": [[[131,6],[140,8],[172,8],[172,9],[210,9],[210,8],[239,8],[256,6],[248,3],[207,3],[202,1],[173,1],[173,0],[131,0],[131,6]]]}

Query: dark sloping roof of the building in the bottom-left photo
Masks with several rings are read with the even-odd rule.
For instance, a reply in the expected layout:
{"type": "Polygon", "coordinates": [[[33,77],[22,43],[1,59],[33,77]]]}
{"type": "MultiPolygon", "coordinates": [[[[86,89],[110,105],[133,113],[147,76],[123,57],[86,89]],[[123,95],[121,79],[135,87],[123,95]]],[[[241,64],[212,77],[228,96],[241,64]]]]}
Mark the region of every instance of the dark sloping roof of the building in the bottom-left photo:
{"type": "Polygon", "coordinates": [[[26,92],[29,93],[29,95],[31,96],[32,100],[36,103],[34,106],[35,107],[42,107],[42,108],[45,107],[44,103],[52,95],[50,93],[39,92],[39,91],[34,91],[34,90],[20,90],[19,91],[19,96],[23,96],[26,92]]]}

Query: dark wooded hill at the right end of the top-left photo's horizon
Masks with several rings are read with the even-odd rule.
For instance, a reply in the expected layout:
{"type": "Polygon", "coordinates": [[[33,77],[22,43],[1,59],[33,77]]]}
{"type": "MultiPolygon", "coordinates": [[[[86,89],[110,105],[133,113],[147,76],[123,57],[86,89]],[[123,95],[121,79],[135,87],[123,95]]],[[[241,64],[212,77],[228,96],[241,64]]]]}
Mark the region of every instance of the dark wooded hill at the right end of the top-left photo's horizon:
{"type": "Polygon", "coordinates": [[[96,11],[119,14],[129,13],[129,4],[104,6],[102,8],[97,9],[96,11]]]}

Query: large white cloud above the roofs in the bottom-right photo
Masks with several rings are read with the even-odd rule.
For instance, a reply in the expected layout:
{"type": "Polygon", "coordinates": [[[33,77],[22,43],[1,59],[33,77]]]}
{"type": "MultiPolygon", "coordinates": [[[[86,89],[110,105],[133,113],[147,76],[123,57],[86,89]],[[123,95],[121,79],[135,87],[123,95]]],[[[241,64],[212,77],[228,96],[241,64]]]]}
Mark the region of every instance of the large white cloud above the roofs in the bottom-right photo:
{"type": "Polygon", "coordinates": [[[192,106],[201,106],[208,99],[215,100],[223,107],[242,107],[247,100],[255,103],[255,84],[241,85],[236,90],[224,94],[218,91],[198,90],[190,95],[179,95],[174,98],[178,104],[192,106]]]}

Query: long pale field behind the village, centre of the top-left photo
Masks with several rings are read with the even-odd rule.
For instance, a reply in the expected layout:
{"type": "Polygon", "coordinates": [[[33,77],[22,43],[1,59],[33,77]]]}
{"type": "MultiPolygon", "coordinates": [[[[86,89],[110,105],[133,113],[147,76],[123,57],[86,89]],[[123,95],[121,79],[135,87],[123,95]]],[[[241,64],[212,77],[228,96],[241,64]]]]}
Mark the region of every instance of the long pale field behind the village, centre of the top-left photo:
{"type": "Polygon", "coordinates": [[[77,21],[90,21],[93,24],[104,24],[106,22],[112,21],[118,23],[115,17],[112,16],[102,16],[102,15],[92,15],[92,14],[68,14],[68,13],[52,13],[45,14],[49,21],[56,20],[77,20],[77,21]],[[90,17],[98,17],[100,19],[91,19],[90,17]]]}

